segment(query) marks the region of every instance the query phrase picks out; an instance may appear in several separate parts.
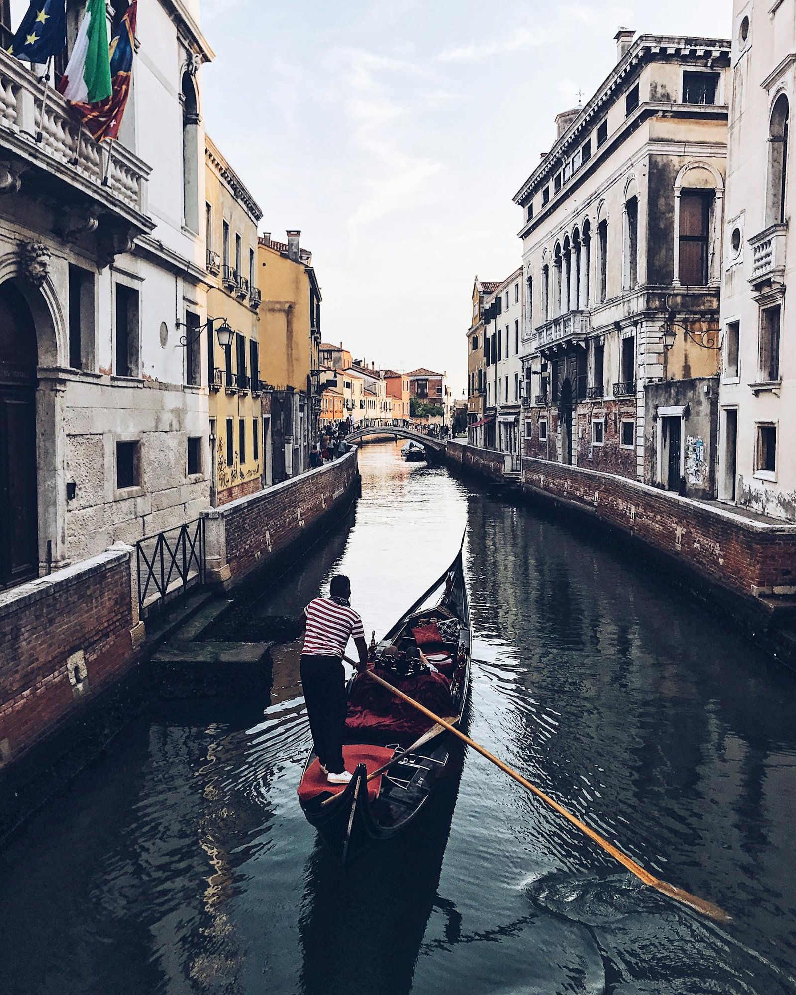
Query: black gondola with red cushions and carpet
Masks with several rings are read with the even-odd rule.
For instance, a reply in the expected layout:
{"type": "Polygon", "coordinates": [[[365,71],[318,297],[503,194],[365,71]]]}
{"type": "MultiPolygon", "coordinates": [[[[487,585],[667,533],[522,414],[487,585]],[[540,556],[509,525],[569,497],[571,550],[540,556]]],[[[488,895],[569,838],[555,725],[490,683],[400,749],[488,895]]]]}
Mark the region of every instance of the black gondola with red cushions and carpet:
{"type": "MultiPolygon", "coordinates": [[[[461,724],[470,689],[470,642],[460,548],[445,573],[371,649],[374,672],[461,724]]],[[[353,777],[339,788],[328,784],[311,750],[298,785],[307,821],[343,864],[404,830],[440,779],[459,771],[461,759],[455,736],[366,674],[351,678],[347,695],[343,756],[353,777]]]]}

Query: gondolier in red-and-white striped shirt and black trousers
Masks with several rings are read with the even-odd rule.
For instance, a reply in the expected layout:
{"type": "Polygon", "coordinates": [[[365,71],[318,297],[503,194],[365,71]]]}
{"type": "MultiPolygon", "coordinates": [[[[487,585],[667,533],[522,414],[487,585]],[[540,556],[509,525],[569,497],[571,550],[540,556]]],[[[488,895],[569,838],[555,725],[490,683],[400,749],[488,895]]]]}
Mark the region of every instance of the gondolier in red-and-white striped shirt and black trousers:
{"type": "Polygon", "coordinates": [[[301,684],[315,753],[330,784],[351,780],[342,756],[347,707],[342,657],[349,639],[353,638],[360,668],[367,664],[362,619],[351,608],[350,597],[350,581],[337,574],[331,578],[328,598],[315,598],[304,608],[301,684]]]}

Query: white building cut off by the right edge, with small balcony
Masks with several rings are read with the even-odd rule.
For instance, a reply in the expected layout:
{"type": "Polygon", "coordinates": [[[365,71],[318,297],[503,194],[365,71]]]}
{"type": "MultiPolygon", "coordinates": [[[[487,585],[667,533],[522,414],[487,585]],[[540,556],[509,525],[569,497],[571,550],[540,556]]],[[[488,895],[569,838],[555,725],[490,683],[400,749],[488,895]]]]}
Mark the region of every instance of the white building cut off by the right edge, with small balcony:
{"type": "Polygon", "coordinates": [[[733,4],[718,497],[796,520],[792,3],[733,4]]]}

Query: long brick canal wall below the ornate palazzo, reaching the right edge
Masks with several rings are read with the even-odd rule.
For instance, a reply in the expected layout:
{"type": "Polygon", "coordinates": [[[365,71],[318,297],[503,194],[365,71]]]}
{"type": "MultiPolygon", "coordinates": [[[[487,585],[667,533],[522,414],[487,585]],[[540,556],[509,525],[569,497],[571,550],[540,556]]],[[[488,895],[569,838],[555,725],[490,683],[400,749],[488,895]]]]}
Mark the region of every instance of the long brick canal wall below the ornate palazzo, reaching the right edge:
{"type": "Polygon", "coordinates": [[[611,474],[525,459],[523,488],[588,510],[745,594],[796,589],[796,526],[743,516],[611,474]]]}

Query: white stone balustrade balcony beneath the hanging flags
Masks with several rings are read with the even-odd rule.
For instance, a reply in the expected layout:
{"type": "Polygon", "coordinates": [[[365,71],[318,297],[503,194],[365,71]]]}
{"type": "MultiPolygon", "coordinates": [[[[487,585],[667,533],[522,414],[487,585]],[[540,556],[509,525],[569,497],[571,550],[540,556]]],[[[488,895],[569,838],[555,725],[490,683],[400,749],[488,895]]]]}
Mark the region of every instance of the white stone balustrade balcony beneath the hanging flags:
{"type": "Polygon", "coordinates": [[[98,262],[109,265],[154,228],[146,216],[150,167],[119,142],[100,145],[79,126],[66,100],[0,51],[2,192],[56,203],[56,234],[75,241],[97,233],[98,262]],[[44,115],[42,106],[44,104],[44,115]]]}

